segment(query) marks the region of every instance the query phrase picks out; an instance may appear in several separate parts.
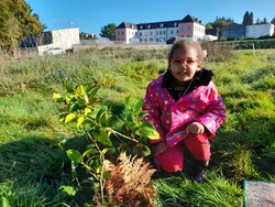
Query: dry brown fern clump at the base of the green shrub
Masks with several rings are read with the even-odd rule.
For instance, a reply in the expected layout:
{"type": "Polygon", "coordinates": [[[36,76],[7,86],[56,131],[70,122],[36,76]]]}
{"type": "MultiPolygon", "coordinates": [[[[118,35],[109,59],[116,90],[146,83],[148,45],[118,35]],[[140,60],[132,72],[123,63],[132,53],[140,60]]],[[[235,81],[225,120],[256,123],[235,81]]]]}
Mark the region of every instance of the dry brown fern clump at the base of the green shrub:
{"type": "Polygon", "coordinates": [[[148,163],[136,156],[127,156],[121,153],[119,163],[105,161],[103,168],[110,172],[106,179],[105,190],[108,194],[108,204],[111,206],[147,206],[153,207],[156,190],[151,186],[151,176],[155,170],[148,163]]]}

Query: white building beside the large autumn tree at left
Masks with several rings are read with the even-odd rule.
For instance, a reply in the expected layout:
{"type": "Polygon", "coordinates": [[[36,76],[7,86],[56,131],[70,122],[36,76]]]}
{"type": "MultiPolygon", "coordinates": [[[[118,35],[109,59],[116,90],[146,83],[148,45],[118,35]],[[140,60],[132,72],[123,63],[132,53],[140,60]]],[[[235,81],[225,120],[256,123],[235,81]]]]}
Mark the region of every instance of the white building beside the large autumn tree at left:
{"type": "Polygon", "coordinates": [[[47,44],[37,46],[38,55],[43,55],[45,51],[52,47],[70,50],[74,44],[80,44],[78,28],[44,32],[42,33],[42,39],[47,44]]]}

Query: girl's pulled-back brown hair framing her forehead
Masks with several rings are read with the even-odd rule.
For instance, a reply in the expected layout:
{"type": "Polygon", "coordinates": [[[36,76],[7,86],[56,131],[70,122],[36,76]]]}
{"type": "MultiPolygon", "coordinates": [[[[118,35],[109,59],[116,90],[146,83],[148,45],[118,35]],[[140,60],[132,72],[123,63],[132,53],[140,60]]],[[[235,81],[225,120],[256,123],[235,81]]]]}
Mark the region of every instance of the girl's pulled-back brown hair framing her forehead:
{"type": "Polygon", "coordinates": [[[186,39],[179,39],[174,42],[173,46],[170,47],[167,58],[168,58],[168,67],[170,65],[170,59],[173,57],[174,52],[177,48],[184,48],[184,47],[193,47],[197,52],[198,61],[200,64],[202,64],[205,54],[202,51],[202,47],[199,43],[193,41],[193,40],[186,40],[186,39]]]}

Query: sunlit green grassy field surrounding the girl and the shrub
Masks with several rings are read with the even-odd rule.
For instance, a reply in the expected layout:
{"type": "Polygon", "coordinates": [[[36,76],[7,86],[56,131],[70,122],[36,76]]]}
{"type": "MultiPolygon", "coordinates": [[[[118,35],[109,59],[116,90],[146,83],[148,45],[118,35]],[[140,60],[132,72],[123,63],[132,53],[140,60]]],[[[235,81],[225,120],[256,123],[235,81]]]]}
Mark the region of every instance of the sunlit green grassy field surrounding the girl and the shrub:
{"type": "MultiPolygon", "coordinates": [[[[211,140],[209,182],[154,178],[155,206],[238,207],[243,205],[243,181],[275,182],[274,52],[212,50],[205,66],[216,74],[228,119],[211,140]]],[[[64,81],[99,84],[99,103],[119,116],[127,96],[142,99],[147,84],[166,70],[165,57],[163,50],[131,48],[0,57],[0,206],[85,206],[85,195],[68,197],[58,190],[70,182],[59,140],[78,139],[82,132],[58,122],[53,92],[64,91],[64,81]]]]}

